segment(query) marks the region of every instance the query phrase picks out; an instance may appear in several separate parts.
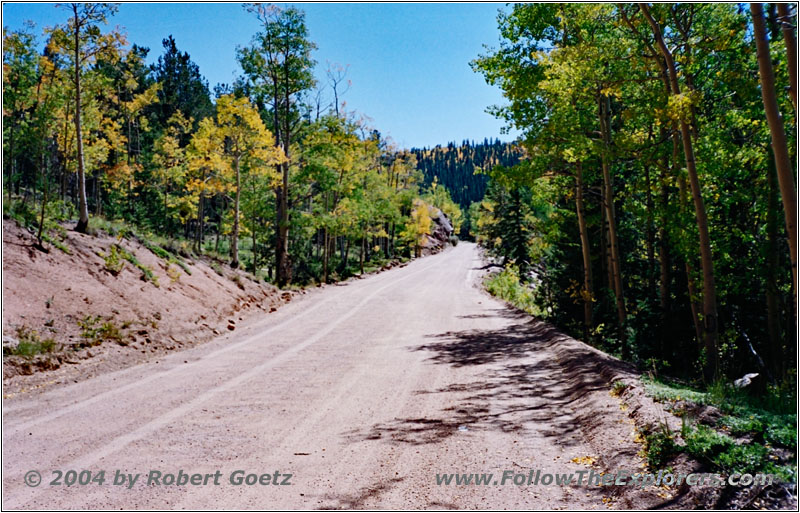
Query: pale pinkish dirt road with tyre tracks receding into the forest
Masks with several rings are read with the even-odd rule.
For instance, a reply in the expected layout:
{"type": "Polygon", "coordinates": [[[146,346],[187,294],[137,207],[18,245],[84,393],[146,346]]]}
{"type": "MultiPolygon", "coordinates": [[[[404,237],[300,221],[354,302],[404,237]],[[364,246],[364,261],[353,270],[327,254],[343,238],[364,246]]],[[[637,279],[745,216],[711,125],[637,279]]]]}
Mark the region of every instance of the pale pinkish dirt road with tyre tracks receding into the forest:
{"type": "Polygon", "coordinates": [[[656,491],[436,484],[437,473],[641,465],[631,421],[594,363],[572,361],[559,350],[566,337],[481,292],[480,267],[476,247],[462,243],[157,363],[5,401],[3,506],[606,509],[663,500],[656,491]],[[43,477],[37,487],[25,484],[30,470],[43,477]],[[54,470],[104,470],[105,482],[51,486],[54,470]],[[142,476],[114,486],[117,470],[142,476]],[[222,477],[148,486],[152,470],[222,477]],[[236,486],[236,470],[292,474],[291,485],[236,486]]]}

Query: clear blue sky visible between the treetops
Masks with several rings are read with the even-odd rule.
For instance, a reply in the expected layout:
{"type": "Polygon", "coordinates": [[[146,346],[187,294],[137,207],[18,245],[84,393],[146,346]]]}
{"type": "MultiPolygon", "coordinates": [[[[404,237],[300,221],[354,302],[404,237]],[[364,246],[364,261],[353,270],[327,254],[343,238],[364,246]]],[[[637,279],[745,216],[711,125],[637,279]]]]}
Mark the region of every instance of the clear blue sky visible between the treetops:
{"type": "MultiPolygon", "coordinates": [[[[469,67],[484,44],[497,46],[496,15],[505,4],[293,5],[306,12],[318,46],[318,78],[328,61],[349,64],[352,87],[342,98],[347,110],[371,118],[401,147],[515,136],[501,135],[502,122],[485,112],[503,103],[500,91],[469,67]]],[[[66,19],[55,4],[3,5],[3,26],[11,29],[24,20],[41,29],[66,19]]],[[[233,81],[240,72],[236,47],[248,44],[259,28],[239,3],[123,3],[110,25],[124,28],[131,43],[149,47],[151,62],[172,34],[212,88],[233,81]]]]}

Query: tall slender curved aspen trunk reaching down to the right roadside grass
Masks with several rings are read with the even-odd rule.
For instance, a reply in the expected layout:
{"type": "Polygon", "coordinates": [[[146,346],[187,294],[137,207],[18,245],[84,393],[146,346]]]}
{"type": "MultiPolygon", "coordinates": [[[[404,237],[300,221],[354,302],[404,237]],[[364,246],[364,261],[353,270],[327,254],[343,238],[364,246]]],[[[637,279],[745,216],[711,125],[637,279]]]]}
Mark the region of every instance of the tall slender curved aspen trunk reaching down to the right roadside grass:
{"type": "MultiPolygon", "coordinates": [[[[666,62],[667,72],[669,73],[670,88],[673,96],[680,96],[681,90],[678,84],[678,73],[675,68],[675,61],[672,53],[667,48],[661,27],[650,14],[650,8],[646,3],[639,4],[642,14],[647,19],[653,29],[653,36],[656,39],[659,50],[666,62]]],[[[705,369],[706,377],[716,378],[719,371],[717,355],[717,291],[714,282],[714,263],[711,256],[711,240],[708,234],[708,217],[703,203],[703,196],[700,191],[700,181],[697,178],[697,168],[695,166],[694,148],[689,125],[686,120],[680,120],[681,140],[683,141],[683,152],[686,157],[686,170],[689,175],[689,183],[692,188],[692,198],[694,200],[695,213],[697,217],[697,229],[700,239],[700,261],[703,268],[703,322],[705,324],[705,349],[708,358],[705,369]]]]}

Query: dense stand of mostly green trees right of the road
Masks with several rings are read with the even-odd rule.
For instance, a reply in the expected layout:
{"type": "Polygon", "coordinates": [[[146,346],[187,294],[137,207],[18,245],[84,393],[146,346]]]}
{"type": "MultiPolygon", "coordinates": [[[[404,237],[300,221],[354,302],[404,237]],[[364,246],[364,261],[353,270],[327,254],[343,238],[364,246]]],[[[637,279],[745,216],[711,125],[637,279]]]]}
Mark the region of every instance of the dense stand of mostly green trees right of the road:
{"type": "Polygon", "coordinates": [[[796,375],[796,10],[524,4],[473,62],[522,132],[470,208],[535,311],[653,371],[796,375]]]}

